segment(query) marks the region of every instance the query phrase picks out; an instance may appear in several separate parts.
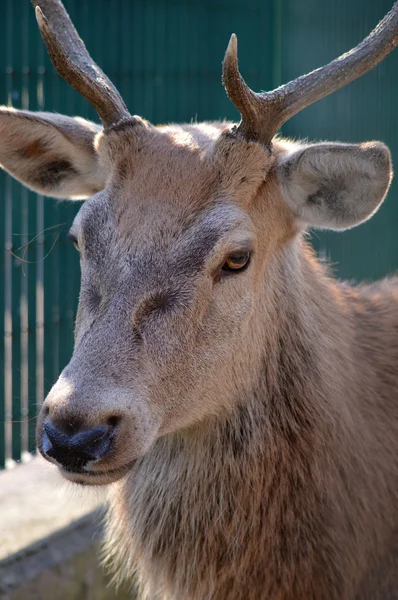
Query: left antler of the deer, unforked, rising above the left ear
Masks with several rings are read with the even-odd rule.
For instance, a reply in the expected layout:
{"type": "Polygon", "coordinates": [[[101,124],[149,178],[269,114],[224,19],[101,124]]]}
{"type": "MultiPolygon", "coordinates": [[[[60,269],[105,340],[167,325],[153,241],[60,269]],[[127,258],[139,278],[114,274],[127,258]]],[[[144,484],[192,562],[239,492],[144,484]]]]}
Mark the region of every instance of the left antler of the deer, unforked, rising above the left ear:
{"type": "Polygon", "coordinates": [[[92,60],[61,0],[32,0],[55,69],[97,111],[104,127],[130,116],[122,97],[92,60]]]}

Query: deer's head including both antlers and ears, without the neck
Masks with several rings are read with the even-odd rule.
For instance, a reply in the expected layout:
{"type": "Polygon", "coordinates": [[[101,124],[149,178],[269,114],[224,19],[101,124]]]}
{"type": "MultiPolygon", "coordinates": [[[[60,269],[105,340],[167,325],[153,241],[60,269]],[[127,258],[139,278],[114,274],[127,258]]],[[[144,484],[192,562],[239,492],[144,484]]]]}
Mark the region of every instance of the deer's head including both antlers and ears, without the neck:
{"type": "Polygon", "coordinates": [[[302,231],[352,227],[380,206],[392,176],[383,144],[275,134],[383,60],[397,44],[398,3],[355,49],[264,94],[244,83],[232,36],[223,82],[241,123],[162,127],[129,114],[60,0],[33,4],[55,68],[103,125],[0,112],[9,173],[43,194],[88,198],[70,232],[82,271],[74,353],[37,441],[68,479],[105,484],[160,436],[234,409],[257,377],[278,277],[294,273],[302,231]]]}

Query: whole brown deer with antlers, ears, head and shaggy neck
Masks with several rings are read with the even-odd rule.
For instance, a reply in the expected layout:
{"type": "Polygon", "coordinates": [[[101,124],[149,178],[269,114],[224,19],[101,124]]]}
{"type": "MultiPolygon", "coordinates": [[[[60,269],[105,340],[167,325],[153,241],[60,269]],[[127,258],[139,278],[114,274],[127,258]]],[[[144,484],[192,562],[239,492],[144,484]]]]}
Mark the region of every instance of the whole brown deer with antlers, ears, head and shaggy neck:
{"type": "Polygon", "coordinates": [[[240,122],[161,126],[129,113],[60,0],[33,5],[101,125],[4,106],[0,163],[86,199],[74,351],[37,446],[107,486],[105,562],[143,599],[397,599],[398,278],[341,283],[306,236],[371,218],[390,153],[278,132],[395,48],[398,2],[270,92],[245,83],[232,35],[240,122]]]}

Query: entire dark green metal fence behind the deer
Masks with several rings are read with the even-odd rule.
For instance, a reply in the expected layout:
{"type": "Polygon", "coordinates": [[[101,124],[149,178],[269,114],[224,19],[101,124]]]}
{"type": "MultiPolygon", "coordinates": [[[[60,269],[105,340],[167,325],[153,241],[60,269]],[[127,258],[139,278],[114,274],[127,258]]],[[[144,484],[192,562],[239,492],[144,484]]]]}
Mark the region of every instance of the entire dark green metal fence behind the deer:
{"type": "MultiPolygon", "coordinates": [[[[236,119],[220,84],[229,35],[249,85],[270,89],[362,39],[393,0],[65,0],[86,45],[130,110],[152,122],[236,119]]],[[[29,0],[0,0],[0,102],[96,119],[55,73],[29,0]]],[[[283,133],[382,139],[398,157],[398,54],[306,109],[283,133]]],[[[398,266],[398,188],[369,223],[313,234],[344,278],[398,266]]],[[[32,194],[0,173],[0,468],[35,448],[36,408],[68,362],[79,266],[66,233],[79,203],[32,194]]]]}

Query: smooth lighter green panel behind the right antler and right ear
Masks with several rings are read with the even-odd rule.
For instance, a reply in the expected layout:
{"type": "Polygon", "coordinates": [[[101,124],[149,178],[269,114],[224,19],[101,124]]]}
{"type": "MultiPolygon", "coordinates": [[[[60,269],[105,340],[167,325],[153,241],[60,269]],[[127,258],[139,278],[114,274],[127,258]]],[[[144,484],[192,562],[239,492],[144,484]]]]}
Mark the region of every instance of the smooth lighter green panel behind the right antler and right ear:
{"type": "MultiPolygon", "coordinates": [[[[391,0],[283,1],[283,79],[329,62],[355,46],[390,10],[391,0]],[[305,10],[303,10],[305,6],[305,10]]],[[[398,54],[292,119],[284,134],[310,140],[382,140],[398,156],[398,54]]],[[[375,279],[398,267],[398,184],[379,212],[344,233],[314,232],[313,242],[342,278],[375,279]]]]}

